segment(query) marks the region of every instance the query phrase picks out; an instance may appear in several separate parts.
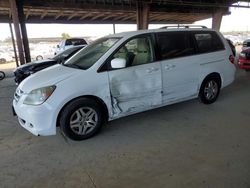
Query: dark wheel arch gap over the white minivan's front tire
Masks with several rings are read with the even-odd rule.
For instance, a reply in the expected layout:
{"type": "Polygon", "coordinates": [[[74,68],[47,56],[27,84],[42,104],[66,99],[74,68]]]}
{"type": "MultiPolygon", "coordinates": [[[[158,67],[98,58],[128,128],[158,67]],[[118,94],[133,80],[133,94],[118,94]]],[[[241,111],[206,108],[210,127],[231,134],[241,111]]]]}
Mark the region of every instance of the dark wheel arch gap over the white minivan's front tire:
{"type": "Polygon", "coordinates": [[[92,99],[92,100],[96,101],[101,106],[101,108],[102,108],[102,112],[104,113],[104,117],[105,117],[105,119],[104,119],[105,123],[108,121],[108,119],[109,119],[109,113],[108,113],[108,107],[107,107],[106,103],[101,98],[99,98],[97,96],[94,96],[94,95],[83,95],[83,96],[79,96],[79,97],[73,98],[73,99],[71,99],[70,101],[68,101],[67,103],[65,103],[63,105],[63,107],[60,109],[60,111],[59,111],[59,113],[57,115],[57,118],[56,118],[56,126],[57,127],[60,126],[59,125],[59,119],[60,119],[61,113],[64,110],[64,108],[69,103],[71,103],[72,101],[80,99],[80,98],[85,98],[85,99],[87,98],[87,99],[92,99]]]}

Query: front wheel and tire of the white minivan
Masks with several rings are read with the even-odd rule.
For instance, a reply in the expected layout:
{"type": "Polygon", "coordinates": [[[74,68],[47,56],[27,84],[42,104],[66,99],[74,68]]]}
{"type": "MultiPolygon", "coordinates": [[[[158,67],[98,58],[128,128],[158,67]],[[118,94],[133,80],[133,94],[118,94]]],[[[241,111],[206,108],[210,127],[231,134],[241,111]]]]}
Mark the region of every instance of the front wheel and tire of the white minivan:
{"type": "Polygon", "coordinates": [[[72,140],[85,140],[97,134],[105,123],[101,106],[93,99],[80,98],[62,110],[60,127],[72,140]]]}

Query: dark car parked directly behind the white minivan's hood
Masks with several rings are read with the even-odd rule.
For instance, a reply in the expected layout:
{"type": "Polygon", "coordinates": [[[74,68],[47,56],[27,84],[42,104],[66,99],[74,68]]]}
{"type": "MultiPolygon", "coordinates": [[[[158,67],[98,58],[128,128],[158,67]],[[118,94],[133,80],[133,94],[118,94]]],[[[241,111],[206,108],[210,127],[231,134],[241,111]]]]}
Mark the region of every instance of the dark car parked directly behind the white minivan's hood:
{"type": "Polygon", "coordinates": [[[34,62],[27,63],[25,65],[21,65],[14,71],[16,84],[20,84],[25,78],[27,78],[28,76],[30,76],[31,74],[37,71],[40,71],[42,69],[55,65],[57,63],[63,63],[64,61],[69,59],[71,56],[73,56],[76,52],[78,52],[80,49],[82,49],[83,47],[84,46],[82,45],[74,46],[70,49],[67,49],[57,54],[51,59],[34,61],[34,62]]]}

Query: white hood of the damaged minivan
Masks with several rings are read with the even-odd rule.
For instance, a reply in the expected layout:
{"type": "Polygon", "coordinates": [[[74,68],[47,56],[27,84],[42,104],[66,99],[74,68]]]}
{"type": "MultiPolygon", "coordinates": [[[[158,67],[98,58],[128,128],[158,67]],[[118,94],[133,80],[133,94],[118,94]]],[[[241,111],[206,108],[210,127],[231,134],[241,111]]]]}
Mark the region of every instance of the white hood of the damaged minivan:
{"type": "Polygon", "coordinates": [[[19,88],[25,93],[29,93],[33,89],[56,85],[57,83],[82,71],[83,70],[74,69],[63,65],[54,65],[32,74],[21,82],[19,88]]]}

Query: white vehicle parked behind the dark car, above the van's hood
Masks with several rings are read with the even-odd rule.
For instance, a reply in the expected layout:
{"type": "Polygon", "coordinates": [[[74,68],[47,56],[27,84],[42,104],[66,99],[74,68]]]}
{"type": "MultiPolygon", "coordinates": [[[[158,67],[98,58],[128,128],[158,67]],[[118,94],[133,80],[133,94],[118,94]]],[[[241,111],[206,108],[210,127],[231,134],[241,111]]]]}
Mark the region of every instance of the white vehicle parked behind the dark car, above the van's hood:
{"type": "Polygon", "coordinates": [[[55,55],[67,50],[69,48],[72,48],[73,46],[79,46],[79,45],[87,45],[87,42],[82,39],[82,38],[69,38],[69,39],[64,39],[60,42],[59,45],[57,45],[57,49],[55,52],[55,55]]]}

